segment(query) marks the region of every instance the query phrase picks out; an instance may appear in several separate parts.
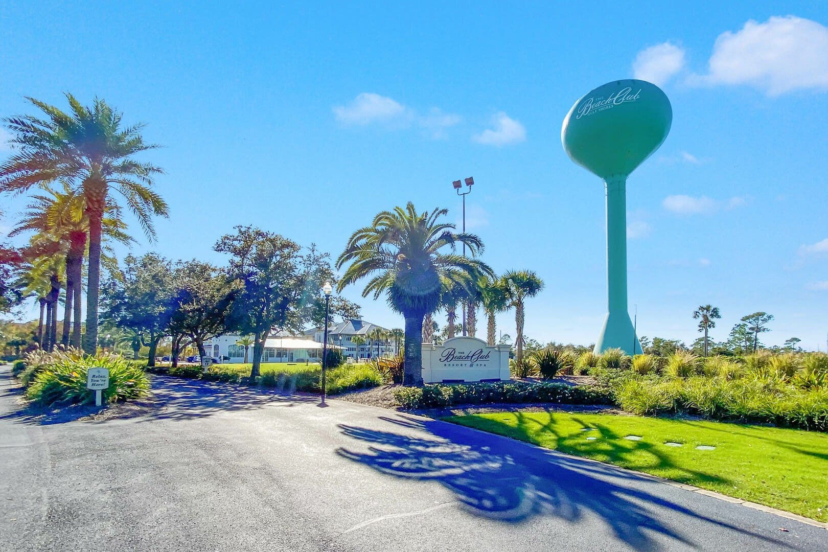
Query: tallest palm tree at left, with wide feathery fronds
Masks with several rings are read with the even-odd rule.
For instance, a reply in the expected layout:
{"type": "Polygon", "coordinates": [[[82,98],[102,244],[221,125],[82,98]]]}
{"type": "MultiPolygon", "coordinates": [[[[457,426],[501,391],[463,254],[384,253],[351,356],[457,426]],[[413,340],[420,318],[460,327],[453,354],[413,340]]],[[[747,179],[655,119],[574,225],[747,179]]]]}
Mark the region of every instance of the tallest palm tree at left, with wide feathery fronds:
{"type": "Polygon", "coordinates": [[[98,342],[98,297],[103,218],[110,189],[123,196],[151,241],[152,214],[167,215],[166,202],[156,194],[152,179],[160,168],[133,156],[157,146],[144,143],[143,125],[123,127],[122,114],[102,99],[82,106],[66,94],[70,113],[27,98],[46,118],[31,115],[6,118],[15,153],[0,166],[0,192],[20,193],[33,186],[66,180],[79,189],[89,217],[89,278],[86,295],[84,351],[94,353],[98,342]]]}

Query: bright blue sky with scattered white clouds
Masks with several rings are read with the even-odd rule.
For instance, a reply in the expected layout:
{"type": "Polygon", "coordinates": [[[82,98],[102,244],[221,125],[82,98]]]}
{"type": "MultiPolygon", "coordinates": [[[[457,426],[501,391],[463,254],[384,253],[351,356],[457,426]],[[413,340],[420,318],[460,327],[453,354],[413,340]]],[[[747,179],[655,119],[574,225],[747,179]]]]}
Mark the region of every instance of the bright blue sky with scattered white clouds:
{"type": "MultiPolygon", "coordinates": [[[[820,2],[673,3],[3,2],[0,117],[31,113],[24,96],[65,107],[70,91],[146,122],[165,146],[151,158],[171,218],[133,252],[176,259],[224,262],[212,246],[235,224],[335,257],[408,200],[459,221],[451,181],[473,175],[467,226],[484,259],[546,281],[527,336],[591,343],[606,301],[604,190],[562,150],[561,122],[600,84],[650,79],[674,115],[628,181],[639,334],[689,343],[692,311],[712,303],[714,338],[765,310],[767,343],[825,350],[828,14],[820,2]]],[[[25,199],[0,200],[7,229],[25,199]]],[[[383,302],[345,295],[402,327],[383,302]]],[[[514,334],[513,314],[498,322],[514,334]]]]}

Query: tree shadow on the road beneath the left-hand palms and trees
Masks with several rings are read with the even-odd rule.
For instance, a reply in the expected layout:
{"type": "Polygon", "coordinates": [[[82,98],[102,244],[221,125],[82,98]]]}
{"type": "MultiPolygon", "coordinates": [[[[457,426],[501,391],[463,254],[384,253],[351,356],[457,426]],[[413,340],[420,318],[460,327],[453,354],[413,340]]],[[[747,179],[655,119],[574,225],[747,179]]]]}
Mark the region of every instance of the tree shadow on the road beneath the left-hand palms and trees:
{"type": "MultiPolygon", "coordinates": [[[[22,388],[7,387],[7,394],[22,395],[22,388]]],[[[0,420],[15,420],[22,424],[54,425],[89,419],[190,420],[219,412],[253,410],[265,406],[297,406],[319,402],[320,397],[291,394],[278,389],[246,387],[224,382],[203,382],[179,377],[153,376],[152,395],[136,401],[116,403],[107,407],[75,405],[48,409],[36,404],[0,415],[0,420]]]]}

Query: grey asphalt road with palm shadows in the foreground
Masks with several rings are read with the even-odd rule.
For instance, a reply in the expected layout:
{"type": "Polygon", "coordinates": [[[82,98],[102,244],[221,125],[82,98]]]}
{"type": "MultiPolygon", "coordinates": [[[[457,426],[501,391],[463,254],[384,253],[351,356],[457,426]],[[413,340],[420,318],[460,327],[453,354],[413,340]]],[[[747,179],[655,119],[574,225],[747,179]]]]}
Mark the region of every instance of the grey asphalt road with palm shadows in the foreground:
{"type": "Polygon", "coordinates": [[[819,527],[440,421],[154,386],[156,409],[53,423],[0,369],[0,550],[828,550],[819,527]]]}

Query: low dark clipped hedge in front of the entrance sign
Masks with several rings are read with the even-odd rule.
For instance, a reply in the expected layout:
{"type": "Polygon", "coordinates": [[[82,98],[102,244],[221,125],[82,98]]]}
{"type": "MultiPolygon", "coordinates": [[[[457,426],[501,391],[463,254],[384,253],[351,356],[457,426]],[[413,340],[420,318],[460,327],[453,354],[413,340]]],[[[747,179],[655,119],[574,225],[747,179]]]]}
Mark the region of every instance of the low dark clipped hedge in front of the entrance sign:
{"type": "Polygon", "coordinates": [[[423,387],[397,387],[394,399],[403,408],[443,408],[461,404],[482,405],[494,402],[606,405],[612,398],[599,386],[567,386],[562,383],[499,382],[449,385],[435,383],[423,387]]]}

